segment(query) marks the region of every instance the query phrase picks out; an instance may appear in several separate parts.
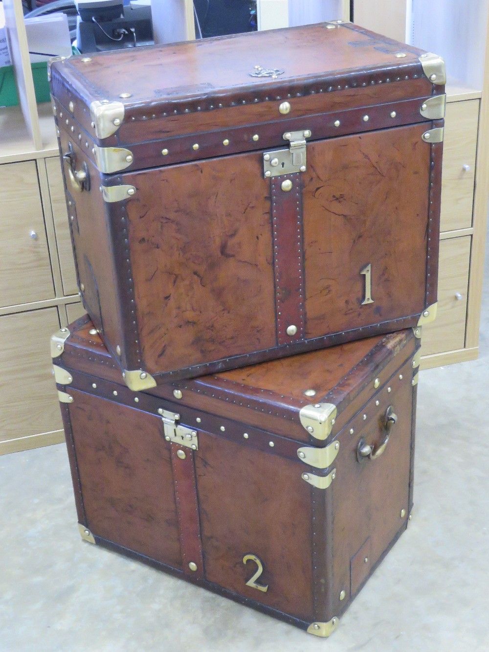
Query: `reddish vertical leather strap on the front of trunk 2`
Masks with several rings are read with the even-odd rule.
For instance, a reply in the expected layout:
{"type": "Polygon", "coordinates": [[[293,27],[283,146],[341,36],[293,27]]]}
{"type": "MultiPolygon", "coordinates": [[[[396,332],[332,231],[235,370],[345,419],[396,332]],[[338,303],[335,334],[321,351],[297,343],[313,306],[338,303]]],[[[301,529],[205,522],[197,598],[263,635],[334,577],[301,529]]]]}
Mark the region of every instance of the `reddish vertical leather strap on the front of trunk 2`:
{"type": "Polygon", "coordinates": [[[180,529],[183,572],[189,577],[204,577],[200,518],[197,498],[194,452],[177,443],[171,443],[171,463],[180,529]],[[178,456],[185,454],[185,458],[178,456]],[[196,570],[192,568],[197,567],[196,570]]]}

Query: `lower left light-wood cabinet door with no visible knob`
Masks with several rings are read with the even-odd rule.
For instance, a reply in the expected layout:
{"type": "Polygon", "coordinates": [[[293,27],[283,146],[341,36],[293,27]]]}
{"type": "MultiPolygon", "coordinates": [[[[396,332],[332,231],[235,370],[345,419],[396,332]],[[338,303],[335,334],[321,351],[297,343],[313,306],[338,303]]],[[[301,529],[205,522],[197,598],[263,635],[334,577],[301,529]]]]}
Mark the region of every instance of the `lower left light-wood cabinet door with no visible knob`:
{"type": "Polygon", "coordinates": [[[58,329],[57,308],[0,317],[0,441],[63,427],[50,357],[58,329]]]}

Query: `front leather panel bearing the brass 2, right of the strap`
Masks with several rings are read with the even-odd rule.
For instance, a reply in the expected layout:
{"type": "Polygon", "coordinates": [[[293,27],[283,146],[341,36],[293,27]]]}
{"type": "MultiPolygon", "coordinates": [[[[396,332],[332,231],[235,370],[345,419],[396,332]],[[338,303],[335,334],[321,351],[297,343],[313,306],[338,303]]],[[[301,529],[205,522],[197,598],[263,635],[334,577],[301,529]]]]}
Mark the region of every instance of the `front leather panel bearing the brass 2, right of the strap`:
{"type": "Polygon", "coordinates": [[[303,464],[219,437],[199,441],[195,457],[205,576],[249,599],[312,621],[310,487],[303,464]],[[299,552],[300,551],[300,552],[299,552]],[[263,564],[243,563],[254,554],[263,564]]]}

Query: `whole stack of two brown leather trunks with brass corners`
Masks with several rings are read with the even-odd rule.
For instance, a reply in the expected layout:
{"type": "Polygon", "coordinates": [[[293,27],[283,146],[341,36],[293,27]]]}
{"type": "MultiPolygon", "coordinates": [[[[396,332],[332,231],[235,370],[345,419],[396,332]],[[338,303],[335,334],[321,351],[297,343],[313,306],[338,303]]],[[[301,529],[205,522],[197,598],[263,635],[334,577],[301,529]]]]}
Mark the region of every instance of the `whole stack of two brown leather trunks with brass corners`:
{"type": "Polygon", "coordinates": [[[327,636],[411,510],[443,61],[325,23],[51,76],[82,537],[327,636]]]}

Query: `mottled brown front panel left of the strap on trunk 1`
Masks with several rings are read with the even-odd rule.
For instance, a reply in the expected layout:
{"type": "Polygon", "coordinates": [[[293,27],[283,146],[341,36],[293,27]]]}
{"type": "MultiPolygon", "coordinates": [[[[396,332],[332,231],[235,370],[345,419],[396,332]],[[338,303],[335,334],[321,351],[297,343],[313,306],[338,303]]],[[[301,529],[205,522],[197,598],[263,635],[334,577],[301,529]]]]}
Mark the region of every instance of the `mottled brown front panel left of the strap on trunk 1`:
{"type": "MultiPolygon", "coordinates": [[[[271,216],[259,156],[123,175],[143,368],[275,345],[271,216]]],[[[127,297],[125,301],[128,301],[127,297]]]]}

